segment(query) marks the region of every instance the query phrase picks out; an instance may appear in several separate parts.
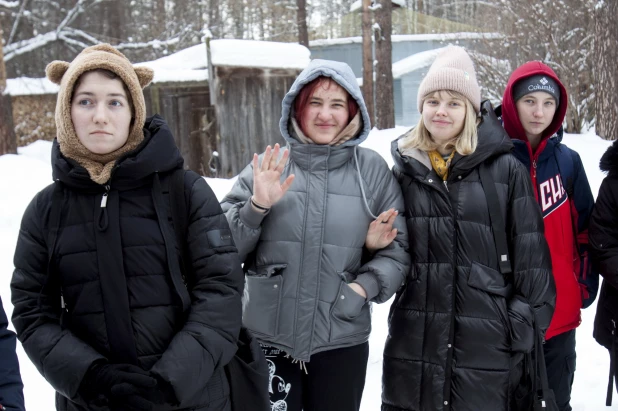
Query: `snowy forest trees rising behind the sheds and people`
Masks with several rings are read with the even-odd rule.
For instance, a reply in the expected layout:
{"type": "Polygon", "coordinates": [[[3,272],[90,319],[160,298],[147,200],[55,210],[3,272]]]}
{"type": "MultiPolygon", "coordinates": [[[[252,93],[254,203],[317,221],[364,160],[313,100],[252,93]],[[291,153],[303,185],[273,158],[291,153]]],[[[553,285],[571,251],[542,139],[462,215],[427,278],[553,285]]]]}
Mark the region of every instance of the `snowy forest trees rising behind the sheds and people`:
{"type": "MultiPolygon", "coordinates": [[[[0,63],[0,87],[2,79],[7,77],[43,77],[46,62],[70,61],[84,47],[99,42],[115,45],[137,62],[154,60],[198,44],[206,33],[213,38],[304,45],[314,39],[360,36],[361,3],[361,0],[0,0],[6,65],[3,77],[0,63]]],[[[378,27],[384,36],[439,33],[444,29],[440,22],[445,20],[451,24],[450,31],[488,33],[487,41],[479,41],[475,51],[484,95],[494,100],[501,96],[505,80],[514,67],[528,60],[545,61],[570,93],[565,124],[569,132],[582,132],[599,122],[595,116],[598,82],[601,80],[610,90],[616,83],[615,74],[606,78],[599,73],[595,79],[595,70],[602,70],[604,64],[609,66],[615,61],[618,36],[616,24],[610,23],[618,17],[615,1],[395,0],[391,5],[391,1],[373,0],[370,3],[378,24],[373,30],[378,27]],[[388,21],[380,17],[384,10],[392,10],[388,21]]],[[[384,47],[380,44],[379,48],[384,47]]],[[[376,57],[376,64],[379,63],[376,57]]],[[[604,107],[615,107],[610,104],[615,99],[612,94],[601,92],[601,98],[611,100],[604,107]]],[[[597,127],[597,132],[612,138],[616,126],[602,125],[600,130],[597,127]]]]}

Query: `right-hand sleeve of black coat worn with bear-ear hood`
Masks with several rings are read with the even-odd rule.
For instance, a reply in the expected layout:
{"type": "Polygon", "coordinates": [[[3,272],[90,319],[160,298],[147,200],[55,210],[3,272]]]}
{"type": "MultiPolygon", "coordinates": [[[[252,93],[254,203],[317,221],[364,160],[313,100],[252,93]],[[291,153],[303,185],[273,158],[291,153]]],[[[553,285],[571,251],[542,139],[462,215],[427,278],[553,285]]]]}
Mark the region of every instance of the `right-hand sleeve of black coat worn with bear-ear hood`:
{"type": "Polygon", "coordinates": [[[170,383],[180,406],[203,390],[236,352],[244,274],[219,202],[206,181],[191,187],[187,244],[195,276],[184,327],[152,371],[170,383]]]}

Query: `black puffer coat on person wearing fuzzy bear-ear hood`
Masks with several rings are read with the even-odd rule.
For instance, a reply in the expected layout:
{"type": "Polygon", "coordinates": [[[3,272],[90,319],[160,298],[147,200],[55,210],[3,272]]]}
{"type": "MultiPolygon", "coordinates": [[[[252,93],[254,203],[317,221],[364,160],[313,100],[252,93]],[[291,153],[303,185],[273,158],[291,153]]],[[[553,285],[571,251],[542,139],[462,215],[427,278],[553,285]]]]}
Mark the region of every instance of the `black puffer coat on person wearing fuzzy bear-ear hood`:
{"type": "Polygon", "coordinates": [[[54,180],[62,188],[54,198],[62,202],[57,239],[50,240],[49,225],[59,183],[37,194],[24,214],[11,289],[18,337],[58,392],[60,410],[86,409],[80,384],[101,359],[137,364],[169,382],[180,405],[157,410],[221,410],[214,404],[227,401],[222,366],[236,351],[243,273],[217,198],[199,179],[185,186],[190,294],[177,278],[161,181],[182,163],[163,119],[149,119],[145,141],[113,170],[101,207],[105,187],[54,144],[54,180]]]}

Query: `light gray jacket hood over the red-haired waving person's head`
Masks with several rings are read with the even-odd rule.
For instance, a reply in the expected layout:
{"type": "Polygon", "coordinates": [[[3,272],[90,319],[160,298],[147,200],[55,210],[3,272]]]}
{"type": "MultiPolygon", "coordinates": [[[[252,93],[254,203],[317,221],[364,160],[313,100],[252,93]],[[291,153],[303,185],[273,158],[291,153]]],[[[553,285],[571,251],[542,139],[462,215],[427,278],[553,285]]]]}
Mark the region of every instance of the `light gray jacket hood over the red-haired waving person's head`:
{"type": "Polygon", "coordinates": [[[365,141],[367,136],[369,135],[369,131],[371,131],[371,122],[369,121],[369,112],[367,111],[367,106],[365,106],[365,101],[363,100],[363,94],[361,92],[360,87],[358,86],[358,82],[356,81],[356,77],[354,76],[354,72],[346,63],[341,63],[338,61],[332,60],[312,60],[311,63],[305,68],[296,78],[292,87],[290,87],[290,91],[283,98],[282,111],[281,111],[281,120],[279,121],[279,129],[281,130],[281,135],[288,143],[297,143],[298,141],[290,135],[289,132],[289,123],[290,123],[290,115],[292,113],[292,105],[294,104],[294,100],[300,90],[311,81],[316,78],[324,76],[330,77],[334,81],[337,82],[341,87],[343,87],[355,100],[358,104],[358,108],[361,113],[361,118],[363,120],[361,125],[360,133],[353,139],[350,139],[343,143],[342,147],[348,146],[356,146],[365,141]]]}

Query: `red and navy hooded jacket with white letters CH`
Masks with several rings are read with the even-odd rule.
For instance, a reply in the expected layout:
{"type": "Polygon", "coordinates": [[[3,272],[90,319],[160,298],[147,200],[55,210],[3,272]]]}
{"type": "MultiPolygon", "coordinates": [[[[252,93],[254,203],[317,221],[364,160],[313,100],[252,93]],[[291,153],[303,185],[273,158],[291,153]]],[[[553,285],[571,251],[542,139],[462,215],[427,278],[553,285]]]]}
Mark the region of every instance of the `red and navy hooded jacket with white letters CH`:
{"type": "MultiPolygon", "coordinates": [[[[562,144],[562,122],[566,114],[566,89],[545,64],[529,62],[513,72],[504,91],[502,115],[505,130],[513,140],[513,154],[530,170],[534,193],[543,213],[556,283],[556,310],[545,338],[576,328],[582,307],[596,297],[599,276],[588,258],[588,221],[594,197],[579,154],[562,144]],[[554,120],[543,132],[533,152],[519,121],[512,87],[520,79],[544,74],[560,86],[560,104],[554,120]]],[[[501,111],[501,113],[500,113],[501,111]]]]}

